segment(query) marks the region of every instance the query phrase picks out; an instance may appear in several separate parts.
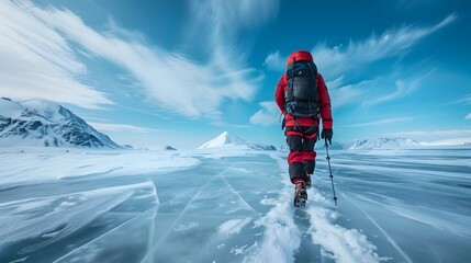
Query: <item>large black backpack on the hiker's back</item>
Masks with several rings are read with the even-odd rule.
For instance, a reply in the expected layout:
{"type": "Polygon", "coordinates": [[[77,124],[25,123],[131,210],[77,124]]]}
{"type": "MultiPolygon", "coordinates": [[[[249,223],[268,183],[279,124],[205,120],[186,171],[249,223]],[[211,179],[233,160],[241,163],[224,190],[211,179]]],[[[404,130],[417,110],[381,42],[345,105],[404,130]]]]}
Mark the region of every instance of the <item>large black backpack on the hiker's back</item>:
{"type": "Polygon", "coordinates": [[[284,108],[296,117],[313,117],[319,113],[317,67],[311,61],[294,61],[287,68],[284,108]]]}

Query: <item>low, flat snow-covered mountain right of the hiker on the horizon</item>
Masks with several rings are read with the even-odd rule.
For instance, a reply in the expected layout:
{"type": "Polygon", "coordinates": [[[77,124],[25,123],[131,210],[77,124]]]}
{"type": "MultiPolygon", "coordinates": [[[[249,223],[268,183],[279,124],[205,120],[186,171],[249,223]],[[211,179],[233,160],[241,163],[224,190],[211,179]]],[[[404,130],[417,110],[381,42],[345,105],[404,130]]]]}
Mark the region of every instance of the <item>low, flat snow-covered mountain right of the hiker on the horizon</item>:
{"type": "Polygon", "coordinates": [[[402,137],[393,137],[357,140],[350,149],[402,149],[419,146],[422,145],[418,141],[402,137]]]}

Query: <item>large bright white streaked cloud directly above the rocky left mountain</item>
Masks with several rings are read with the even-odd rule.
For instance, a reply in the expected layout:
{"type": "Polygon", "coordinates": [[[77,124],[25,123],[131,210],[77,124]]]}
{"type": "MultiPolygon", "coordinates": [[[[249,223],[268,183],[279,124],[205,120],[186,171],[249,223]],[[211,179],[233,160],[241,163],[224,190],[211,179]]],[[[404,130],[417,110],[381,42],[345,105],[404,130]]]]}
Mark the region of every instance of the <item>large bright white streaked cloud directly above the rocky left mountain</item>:
{"type": "Polygon", "coordinates": [[[30,2],[0,2],[0,93],[16,100],[44,99],[88,108],[112,104],[85,83],[87,69],[70,44],[45,23],[47,13],[30,2]]]}

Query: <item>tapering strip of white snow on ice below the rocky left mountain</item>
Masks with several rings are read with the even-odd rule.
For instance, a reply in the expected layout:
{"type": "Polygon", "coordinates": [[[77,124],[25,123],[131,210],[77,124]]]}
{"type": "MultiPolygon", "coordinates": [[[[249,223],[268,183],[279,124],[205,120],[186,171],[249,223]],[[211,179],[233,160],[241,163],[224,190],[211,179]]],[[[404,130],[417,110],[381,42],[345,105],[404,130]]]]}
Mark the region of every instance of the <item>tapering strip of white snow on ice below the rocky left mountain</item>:
{"type": "Polygon", "coordinates": [[[81,176],[160,174],[175,169],[193,167],[199,162],[197,158],[166,151],[86,151],[74,148],[41,151],[41,148],[25,148],[2,152],[1,149],[0,190],[81,176]]]}

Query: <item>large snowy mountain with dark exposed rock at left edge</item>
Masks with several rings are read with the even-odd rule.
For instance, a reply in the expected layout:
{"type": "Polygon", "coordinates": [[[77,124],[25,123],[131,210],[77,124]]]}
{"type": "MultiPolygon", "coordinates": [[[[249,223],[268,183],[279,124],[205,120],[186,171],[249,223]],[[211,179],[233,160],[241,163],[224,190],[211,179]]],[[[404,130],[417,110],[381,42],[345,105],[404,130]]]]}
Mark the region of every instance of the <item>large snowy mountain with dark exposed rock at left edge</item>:
{"type": "Polygon", "coordinates": [[[0,99],[0,146],[121,148],[58,104],[0,99]]]}

